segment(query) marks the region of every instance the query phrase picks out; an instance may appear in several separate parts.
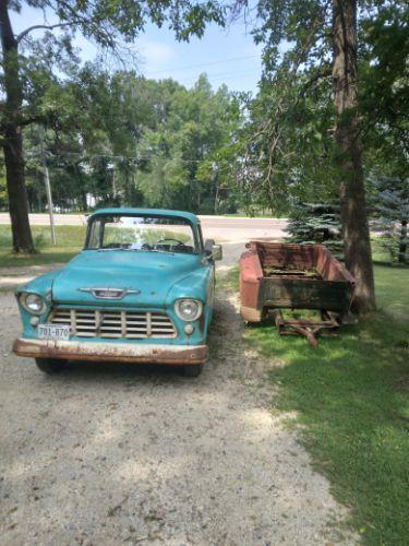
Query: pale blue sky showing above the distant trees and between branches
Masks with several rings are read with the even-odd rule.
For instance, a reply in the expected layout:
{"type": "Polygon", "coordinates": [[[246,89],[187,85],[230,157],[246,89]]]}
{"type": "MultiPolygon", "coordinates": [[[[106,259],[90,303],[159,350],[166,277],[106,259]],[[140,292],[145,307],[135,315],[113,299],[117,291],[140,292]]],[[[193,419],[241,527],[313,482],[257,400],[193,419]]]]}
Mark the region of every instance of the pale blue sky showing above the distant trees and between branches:
{"type": "MultiPolygon", "coordinates": [[[[47,24],[55,23],[51,13],[47,14],[47,24]]],[[[40,10],[24,7],[20,14],[13,13],[14,33],[27,26],[44,23],[40,10]]],[[[34,31],[39,37],[43,31],[34,31]]],[[[97,55],[93,43],[77,36],[75,47],[83,61],[92,60],[97,55]]],[[[135,41],[133,50],[137,61],[130,68],[146,78],[172,78],[191,87],[199,75],[206,72],[212,85],[217,88],[226,84],[233,91],[256,93],[261,76],[261,48],[255,46],[241,19],[228,28],[209,25],[203,38],[193,37],[189,44],[178,43],[167,28],[146,25],[144,34],[135,41]]]]}

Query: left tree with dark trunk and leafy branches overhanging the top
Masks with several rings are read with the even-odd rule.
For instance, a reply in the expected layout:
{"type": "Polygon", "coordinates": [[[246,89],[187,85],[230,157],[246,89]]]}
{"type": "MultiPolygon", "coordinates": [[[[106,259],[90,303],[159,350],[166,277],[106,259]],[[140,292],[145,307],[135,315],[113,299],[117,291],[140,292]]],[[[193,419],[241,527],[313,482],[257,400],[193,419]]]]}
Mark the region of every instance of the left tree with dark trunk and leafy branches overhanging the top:
{"type": "MultiPolygon", "coordinates": [[[[55,40],[68,51],[75,32],[93,38],[99,46],[115,50],[119,39],[132,41],[143,31],[147,21],[161,26],[165,21],[178,39],[189,39],[192,34],[203,35],[206,23],[224,23],[222,9],[212,0],[205,2],[178,0],[140,2],[91,2],[89,0],[27,0],[31,8],[44,13],[52,12],[53,24],[33,25],[17,36],[14,34],[10,12],[20,11],[20,0],[0,0],[0,31],[4,104],[1,105],[1,144],[4,153],[9,207],[12,223],[13,248],[16,252],[34,252],[28,222],[27,192],[23,157],[23,127],[40,121],[41,116],[27,116],[24,102],[25,82],[22,78],[22,46],[29,46],[28,38],[37,29],[49,33],[59,29],[55,40]]],[[[44,45],[47,46],[47,39],[44,45]]],[[[29,85],[28,85],[29,86],[29,85]]]]}

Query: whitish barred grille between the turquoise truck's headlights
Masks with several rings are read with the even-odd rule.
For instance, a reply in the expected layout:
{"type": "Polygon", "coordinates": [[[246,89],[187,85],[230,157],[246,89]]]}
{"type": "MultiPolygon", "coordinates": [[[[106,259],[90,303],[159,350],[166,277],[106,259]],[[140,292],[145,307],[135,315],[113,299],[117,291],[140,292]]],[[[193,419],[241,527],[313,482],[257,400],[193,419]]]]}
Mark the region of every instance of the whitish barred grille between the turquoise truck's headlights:
{"type": "Polygon", "coordinates": [[[70,324],[79,337],[171,339],[177,330],[170,317],[160,312],[53,309],[52,324],[70,324]]]}

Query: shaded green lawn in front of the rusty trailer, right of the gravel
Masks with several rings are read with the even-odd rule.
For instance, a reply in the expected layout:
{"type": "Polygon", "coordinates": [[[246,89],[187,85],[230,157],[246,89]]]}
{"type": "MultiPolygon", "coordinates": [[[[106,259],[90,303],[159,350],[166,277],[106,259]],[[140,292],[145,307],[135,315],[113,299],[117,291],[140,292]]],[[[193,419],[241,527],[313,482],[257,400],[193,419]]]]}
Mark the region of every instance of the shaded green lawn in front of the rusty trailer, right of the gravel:
{"type": "MultiPolygon", "coordinates": [[[[225,285],[234,283],[231,273],[225,285]]],[[[274,406],[296,411],[316,467],[371,545],[409,544],[409,269],[375,266],[378,312],[322,337],[279,337],[273,323],[245,343],[278,359],[274,406]]],[[[237,282],[237,281],[236,281],[237,282]]]]}

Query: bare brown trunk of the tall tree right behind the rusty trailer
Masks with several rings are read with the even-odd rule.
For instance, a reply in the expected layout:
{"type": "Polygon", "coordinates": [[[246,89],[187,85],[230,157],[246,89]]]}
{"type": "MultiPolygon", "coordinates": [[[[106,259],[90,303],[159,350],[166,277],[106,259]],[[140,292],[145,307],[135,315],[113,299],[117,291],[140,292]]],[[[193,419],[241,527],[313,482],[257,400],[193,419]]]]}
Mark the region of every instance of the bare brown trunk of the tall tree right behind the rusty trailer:
{"type": "Polygon", "coordinates": [[[333,7],[335,138],[345,262],[357,281],[353,308],[365,312],[375,309],[375,289],[357,112],[357,0],[333,0],[333,7]]]}

